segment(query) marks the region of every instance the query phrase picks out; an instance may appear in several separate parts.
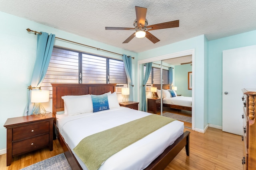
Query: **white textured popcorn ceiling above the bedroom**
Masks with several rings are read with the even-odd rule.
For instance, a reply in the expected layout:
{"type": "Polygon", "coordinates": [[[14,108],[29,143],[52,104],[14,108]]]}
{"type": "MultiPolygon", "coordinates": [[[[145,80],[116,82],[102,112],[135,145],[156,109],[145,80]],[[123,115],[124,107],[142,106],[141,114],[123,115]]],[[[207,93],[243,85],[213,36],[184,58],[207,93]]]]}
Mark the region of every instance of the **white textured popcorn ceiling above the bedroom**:
{"type": "Polygon", "coordinates": [[[0,0],[0,11],[137,53],[202,34],[214,40],[256,30],[256,0],[0,0]],[[150,31],[156,44],[136,37],[122,44],[133,31],[105,27],[133,27],[135,6],[148,9],[148,25],[180,20],[180,27],[150,31]]]}

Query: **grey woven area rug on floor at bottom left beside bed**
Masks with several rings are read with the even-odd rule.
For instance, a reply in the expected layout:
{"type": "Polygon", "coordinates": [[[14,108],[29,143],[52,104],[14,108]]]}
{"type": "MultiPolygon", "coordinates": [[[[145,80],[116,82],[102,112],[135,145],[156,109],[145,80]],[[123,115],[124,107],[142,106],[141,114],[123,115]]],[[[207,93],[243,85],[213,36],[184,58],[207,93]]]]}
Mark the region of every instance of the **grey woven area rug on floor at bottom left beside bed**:
{"type": "Polygon", "coordinates": [[[72,170],[64,153],[42,160],[21,170],[72,170]]]}

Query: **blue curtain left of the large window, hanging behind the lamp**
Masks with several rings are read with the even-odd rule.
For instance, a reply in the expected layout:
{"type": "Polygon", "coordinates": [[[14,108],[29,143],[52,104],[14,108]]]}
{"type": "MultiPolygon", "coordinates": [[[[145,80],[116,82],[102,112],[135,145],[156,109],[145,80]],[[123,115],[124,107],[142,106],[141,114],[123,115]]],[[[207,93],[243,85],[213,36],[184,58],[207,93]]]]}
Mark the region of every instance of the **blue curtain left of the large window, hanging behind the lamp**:
{"type": "MultiPolygon", "coordinates": [[[[48,35],[45,32],[42,32],[42,35],[37,35],[36,62],[30,82],[32,87],[39,88],[44,80],[52,56],[54,38],[54,34],[48,35]]],[[[31,115],[34,107],[34,104],[31,103],[31,90],[29,90],[27,106],[25,115],[31,115]]]]}

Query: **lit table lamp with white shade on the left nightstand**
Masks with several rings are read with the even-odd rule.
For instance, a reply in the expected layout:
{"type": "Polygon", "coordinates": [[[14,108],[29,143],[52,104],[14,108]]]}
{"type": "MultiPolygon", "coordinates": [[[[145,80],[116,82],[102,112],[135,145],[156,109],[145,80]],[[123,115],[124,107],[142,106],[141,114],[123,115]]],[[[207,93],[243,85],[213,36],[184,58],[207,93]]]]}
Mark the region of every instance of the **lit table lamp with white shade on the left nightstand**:
{"type": "Polygon", "coordinates": [[[31,102],[38,103],[33,111],[35,116],[43,116],[47,111],[44,109],[41,103],[49,102],[49,91],[48,90],[32,90],[31,91],[31,102]]]}

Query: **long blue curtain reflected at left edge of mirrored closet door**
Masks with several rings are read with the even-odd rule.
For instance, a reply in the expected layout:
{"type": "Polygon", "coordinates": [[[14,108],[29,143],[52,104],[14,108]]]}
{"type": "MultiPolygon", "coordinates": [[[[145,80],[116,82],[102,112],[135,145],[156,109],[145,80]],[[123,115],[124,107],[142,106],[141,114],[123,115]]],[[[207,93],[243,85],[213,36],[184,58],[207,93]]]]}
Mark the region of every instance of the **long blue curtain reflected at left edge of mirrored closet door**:
{"type": "Polygon", "coordinates": [[[145,76],[142,81],[142,111],[147,111],[147,103],[146,103],[146,83],[148,81],[148,77],[151,71],[152,67],[152,62],[151,63],[146,63],[146,71],[145,71],[145,76]]]}

